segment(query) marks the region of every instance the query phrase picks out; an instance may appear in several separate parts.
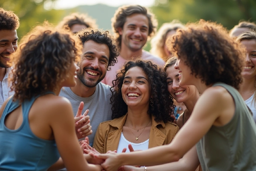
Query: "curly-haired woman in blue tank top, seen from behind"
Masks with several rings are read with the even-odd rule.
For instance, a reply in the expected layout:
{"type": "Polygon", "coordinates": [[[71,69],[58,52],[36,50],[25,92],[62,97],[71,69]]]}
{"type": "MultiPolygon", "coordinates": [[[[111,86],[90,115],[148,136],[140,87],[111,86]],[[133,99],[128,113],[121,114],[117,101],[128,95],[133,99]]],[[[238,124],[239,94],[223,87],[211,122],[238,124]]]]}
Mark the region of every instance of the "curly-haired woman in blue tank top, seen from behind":
{"type": "Polygon", "coordinates": [[[10,57],[14,95],[0,109],[0,170],[100,171],[88,164],[62,87],[76,84],[81,46],[66,30],[35,27],[10,57]],[[61,158],[60,158],[61,156],[61,158]]]}

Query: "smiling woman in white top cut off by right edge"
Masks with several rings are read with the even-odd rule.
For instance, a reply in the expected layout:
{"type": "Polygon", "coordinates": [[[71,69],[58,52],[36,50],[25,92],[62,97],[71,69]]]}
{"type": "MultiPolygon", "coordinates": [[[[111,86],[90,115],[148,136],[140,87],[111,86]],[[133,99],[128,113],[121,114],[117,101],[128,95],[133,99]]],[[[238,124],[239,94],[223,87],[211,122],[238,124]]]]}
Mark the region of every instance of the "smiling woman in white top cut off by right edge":
{"type": "Polygon", "coordinates": [[[256,123],[256,28],[250,32],[240,34],[236,41],[241,42],[247,50],[246,63],[242,72],[243,82],[240,86],[240,94],[245,104],[252,111],[256,123]]]}

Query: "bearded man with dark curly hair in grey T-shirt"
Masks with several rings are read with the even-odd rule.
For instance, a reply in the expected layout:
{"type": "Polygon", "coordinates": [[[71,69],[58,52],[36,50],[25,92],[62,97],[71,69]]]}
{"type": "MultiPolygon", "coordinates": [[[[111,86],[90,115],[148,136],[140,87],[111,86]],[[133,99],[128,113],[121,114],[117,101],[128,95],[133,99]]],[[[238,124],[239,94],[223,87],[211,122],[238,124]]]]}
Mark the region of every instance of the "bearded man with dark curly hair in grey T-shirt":
{"type": "MultiPolygon", "coordinates": [[[[111,119],[110,86],[100,82],[116,63],[118,56],[113,36],[108,31],[80,30],[76,36],[82,42],[82,56],[78,62],[78,81],[75,87],[65,87],[60,95],[71,102],[74,114],[80,109],[82,112],[89,110],[90,126],[81,132],[83,137],[88,136],[92,145],[97,125],[111,119]],[[84,102],[84,107],[80,102],[84,102]]],[[[88,111],[87,111],[88,112],[88,111]]],[[[83,138],[84,139],[84,138],[83,138]]]]}

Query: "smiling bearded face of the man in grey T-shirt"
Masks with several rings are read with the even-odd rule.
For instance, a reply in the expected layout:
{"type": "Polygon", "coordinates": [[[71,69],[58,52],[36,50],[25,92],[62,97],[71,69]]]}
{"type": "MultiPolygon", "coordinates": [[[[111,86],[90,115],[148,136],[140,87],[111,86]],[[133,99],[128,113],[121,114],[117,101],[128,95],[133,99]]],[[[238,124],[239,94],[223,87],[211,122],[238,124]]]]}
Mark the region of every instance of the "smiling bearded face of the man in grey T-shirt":
{"type": "Polygon", "coordinates": [[[78,78],[87,87],[95,87],[106,75],[109,60],[106,44],[88,40],[83,45],[82,57],[78,66],[78,78]]]}

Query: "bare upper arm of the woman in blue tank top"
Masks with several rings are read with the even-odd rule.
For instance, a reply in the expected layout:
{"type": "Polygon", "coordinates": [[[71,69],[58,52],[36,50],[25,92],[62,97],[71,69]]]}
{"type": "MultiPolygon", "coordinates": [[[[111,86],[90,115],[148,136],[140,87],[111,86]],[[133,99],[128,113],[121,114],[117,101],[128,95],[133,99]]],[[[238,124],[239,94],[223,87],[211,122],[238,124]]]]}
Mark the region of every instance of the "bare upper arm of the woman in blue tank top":
{"type": "Polygon", "coordinates": [[[70,102],[66,98],[60,98],[54,103],[54,109],[49,116],[51,116],[50,126],[65,167],[67,170],[85,170],[87,162],[83,158],[75,134],[75,122],[70,102]]]}

